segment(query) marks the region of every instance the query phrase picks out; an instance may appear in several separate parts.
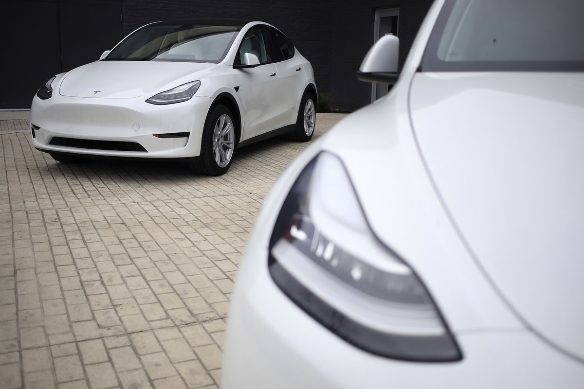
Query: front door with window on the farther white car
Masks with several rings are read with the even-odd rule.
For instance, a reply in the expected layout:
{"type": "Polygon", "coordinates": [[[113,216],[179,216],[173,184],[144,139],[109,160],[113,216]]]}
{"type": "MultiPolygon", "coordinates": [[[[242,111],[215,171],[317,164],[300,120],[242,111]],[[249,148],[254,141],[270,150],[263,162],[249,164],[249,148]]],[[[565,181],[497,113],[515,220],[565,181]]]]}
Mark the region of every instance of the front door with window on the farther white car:
{"type": "Polygon", "coordinates": [[[262,26],[255,26],[245,34],[239,46],[236,64],[246,52],[258,57],[260,65],[254,68],[239,69],[238,96],[242,104],[244,131],[241,141],[253,138],[277,125],[274,118],[279,115],[278,101],[281,92],[278,89],[278,74],[272,61],[272,52],[268,44],[267,33],[262,26]]]}

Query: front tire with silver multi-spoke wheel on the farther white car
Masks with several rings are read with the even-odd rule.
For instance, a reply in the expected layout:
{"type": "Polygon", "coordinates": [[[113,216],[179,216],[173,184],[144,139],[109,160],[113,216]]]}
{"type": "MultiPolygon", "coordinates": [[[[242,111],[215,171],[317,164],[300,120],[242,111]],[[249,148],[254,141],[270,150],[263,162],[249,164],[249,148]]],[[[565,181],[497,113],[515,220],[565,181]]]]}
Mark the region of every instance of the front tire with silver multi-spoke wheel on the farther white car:
{"type": "Polygon", "coordinates": [[[216,106],[207,116],[201,140],[201,160],[196,170],[220,176],[229,170],[235,153],[235,121],[229,108],[216,106]]]}

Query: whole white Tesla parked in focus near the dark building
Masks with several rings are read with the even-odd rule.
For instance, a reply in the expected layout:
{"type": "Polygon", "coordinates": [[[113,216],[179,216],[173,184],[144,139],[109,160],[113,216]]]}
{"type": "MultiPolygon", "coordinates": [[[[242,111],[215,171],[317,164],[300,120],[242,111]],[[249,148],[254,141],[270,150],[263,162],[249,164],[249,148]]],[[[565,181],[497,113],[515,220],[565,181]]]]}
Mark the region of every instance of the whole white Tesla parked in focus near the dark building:
{"type": "Polygon", "coordinates": [[[223,174],[235,149],[269,136],[309,141],[312,66],[262,22],[147,24],[34,96],[33,145],[60,162],[173,159],[223,174]]]}

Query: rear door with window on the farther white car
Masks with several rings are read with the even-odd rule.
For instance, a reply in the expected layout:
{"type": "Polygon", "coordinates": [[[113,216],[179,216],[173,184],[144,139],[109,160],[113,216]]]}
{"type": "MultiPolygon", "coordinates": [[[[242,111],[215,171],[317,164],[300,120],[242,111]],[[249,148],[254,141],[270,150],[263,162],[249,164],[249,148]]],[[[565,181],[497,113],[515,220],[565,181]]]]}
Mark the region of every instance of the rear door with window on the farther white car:
{"type": "Polygon", "coordinates": [[[305,64],[301,61],[300,55],[295,55],[294,45],[281,31],[267,26],[266,29],[272,46],[272,57],[276,62],[279,75],[279,89],[283,92],[279,100],[278,111],[281,112],[279,121],[282,126],[294,124],[306,86],[305,64]]]}

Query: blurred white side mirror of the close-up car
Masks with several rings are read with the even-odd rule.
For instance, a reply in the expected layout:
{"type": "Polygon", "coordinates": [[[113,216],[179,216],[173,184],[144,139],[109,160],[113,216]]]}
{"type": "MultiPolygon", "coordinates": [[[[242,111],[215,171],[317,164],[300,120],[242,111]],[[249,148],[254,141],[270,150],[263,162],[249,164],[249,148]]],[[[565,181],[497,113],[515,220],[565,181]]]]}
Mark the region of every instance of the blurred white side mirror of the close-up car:
{"type": "Polygon", "coordinates": [[[357,72],[361,81],[395,84],[398,73],[399,38],[386,35],[367,52],[357,72]]]}

